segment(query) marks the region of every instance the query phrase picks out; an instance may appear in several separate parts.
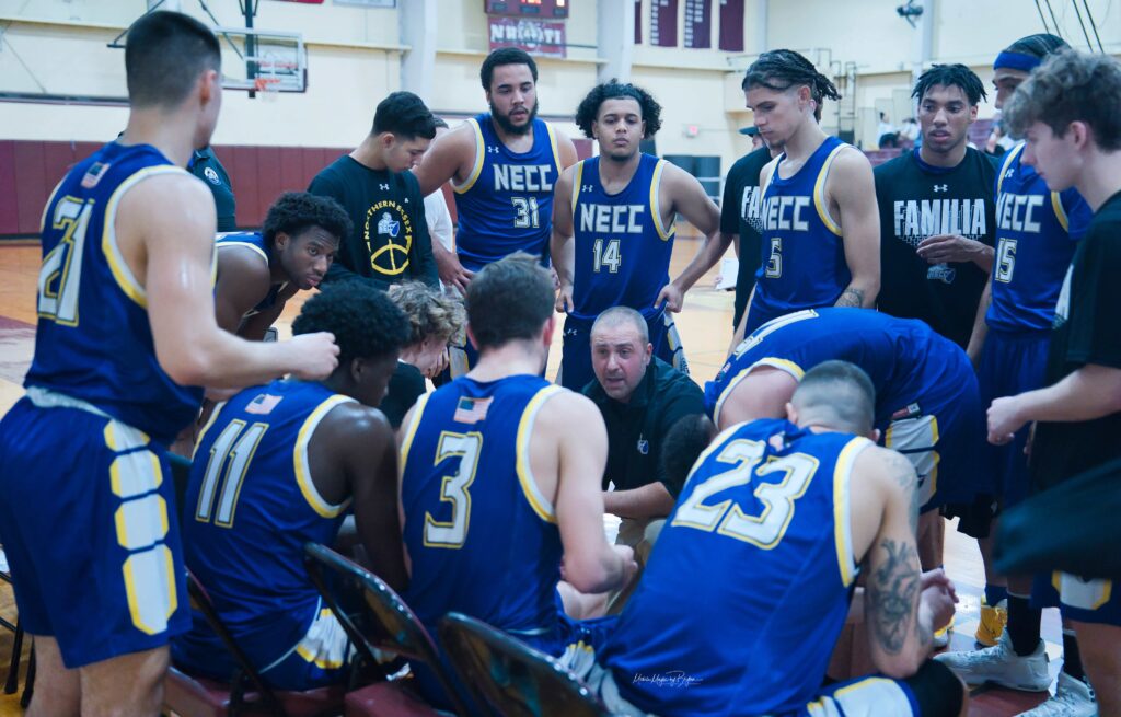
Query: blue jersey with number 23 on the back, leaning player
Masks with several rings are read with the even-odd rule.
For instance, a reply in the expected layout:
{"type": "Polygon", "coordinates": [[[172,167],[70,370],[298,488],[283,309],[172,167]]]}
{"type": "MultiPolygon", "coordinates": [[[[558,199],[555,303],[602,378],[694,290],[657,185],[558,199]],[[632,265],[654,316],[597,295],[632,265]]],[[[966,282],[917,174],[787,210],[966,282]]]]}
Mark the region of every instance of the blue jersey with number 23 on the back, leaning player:
{"type": "Polygon", "coordinates": [[[602,651],[627,700],[707,716],[813,699],[856,577],[849,478],[870,445],[772,419],[716,438],[602,651]]]}

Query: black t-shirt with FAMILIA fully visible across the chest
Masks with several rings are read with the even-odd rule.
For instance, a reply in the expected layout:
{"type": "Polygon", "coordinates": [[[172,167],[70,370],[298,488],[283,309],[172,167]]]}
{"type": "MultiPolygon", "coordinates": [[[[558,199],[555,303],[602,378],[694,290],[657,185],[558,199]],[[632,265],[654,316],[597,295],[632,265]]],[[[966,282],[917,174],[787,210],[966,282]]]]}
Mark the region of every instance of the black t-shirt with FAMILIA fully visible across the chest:
{"type": "Polygon", "coordinates": [[[967,148],[956,167],[932,167],[907,152],[874,169],[880,205],[879,308],[919,318],[963,348],[989,276],[972,262],[930,264],[916,253],[937,234],[993,245],[997,160],[967,148]]]}

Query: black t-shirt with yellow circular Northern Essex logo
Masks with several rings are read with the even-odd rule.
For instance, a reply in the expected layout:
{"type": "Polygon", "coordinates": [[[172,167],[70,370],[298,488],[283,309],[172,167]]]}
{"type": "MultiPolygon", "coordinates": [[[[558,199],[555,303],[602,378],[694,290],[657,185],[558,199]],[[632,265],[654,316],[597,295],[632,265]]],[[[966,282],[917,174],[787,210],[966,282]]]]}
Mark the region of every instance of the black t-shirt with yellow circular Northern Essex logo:
{"type": "Polygon", "coordinates": [[[371,169],[348,155],[315,175],[307,190],[337,201],[354,224],[327,281],[358,276],[381,288],[409,279],[438,286],[424,197],[411,171],[371,169]]]}

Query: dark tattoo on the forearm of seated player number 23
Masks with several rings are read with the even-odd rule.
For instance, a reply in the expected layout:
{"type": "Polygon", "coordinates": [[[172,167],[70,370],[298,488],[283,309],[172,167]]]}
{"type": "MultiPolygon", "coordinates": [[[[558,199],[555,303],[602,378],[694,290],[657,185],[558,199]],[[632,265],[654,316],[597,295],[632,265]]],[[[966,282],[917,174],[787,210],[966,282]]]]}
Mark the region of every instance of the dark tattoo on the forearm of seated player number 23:
{"type": "Polygon", "coordinates": [[[867,599],[872,603],[872,632],[884,652],[898,654],[915,620],[919,590],[918,552],[915,546],[884,538],[880,550],[887,559],[872,574],[867,599]]]}

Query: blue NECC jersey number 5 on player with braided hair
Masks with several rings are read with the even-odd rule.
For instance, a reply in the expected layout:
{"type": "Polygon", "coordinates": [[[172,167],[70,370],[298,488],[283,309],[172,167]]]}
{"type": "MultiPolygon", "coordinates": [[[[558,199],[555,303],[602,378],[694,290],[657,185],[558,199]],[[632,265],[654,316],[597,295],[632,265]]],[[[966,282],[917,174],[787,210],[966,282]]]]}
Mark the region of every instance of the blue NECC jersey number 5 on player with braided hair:
{"type": "Polygon", "coordinates": [[[779,171],[779,157],[762,193],[762,259],[756,273],[752,313],[775,317],[798,309],[832,306],[852,274],[841,227],[830,216],[825,181],[847,145],[827,137],[793,177],[779,171]]]}

